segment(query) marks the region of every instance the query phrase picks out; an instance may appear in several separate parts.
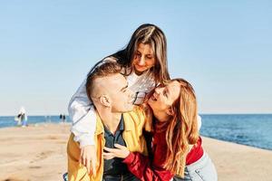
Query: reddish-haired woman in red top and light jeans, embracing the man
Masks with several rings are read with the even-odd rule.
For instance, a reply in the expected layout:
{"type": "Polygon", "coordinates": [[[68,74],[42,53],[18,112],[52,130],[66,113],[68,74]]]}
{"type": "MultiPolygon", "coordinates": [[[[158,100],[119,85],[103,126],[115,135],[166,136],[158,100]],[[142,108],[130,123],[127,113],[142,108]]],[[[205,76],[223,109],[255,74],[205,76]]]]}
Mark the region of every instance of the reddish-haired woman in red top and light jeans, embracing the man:
{"type": "Polygon", "coordinates": [[[105,148],[104,158],[124,158],[131,173],[142,181],[217,180],[216,169],[201,147],[197,100],[189,82],[175,79],[160,85],[147,104],[152,110],[147,111],[152,125],[147,137],[149,157],[115,145],[105,148]]]}

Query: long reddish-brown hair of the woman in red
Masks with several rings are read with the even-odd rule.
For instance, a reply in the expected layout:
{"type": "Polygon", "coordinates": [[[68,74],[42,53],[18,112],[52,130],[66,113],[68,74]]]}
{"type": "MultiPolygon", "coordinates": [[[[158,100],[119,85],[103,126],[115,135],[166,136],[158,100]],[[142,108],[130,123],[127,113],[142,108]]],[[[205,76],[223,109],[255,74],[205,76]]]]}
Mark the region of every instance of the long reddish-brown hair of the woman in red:
{"type": "Polygon", "coordinates": [[[164,167],[183,177],[189,145],[196,144],[199,138],[197,100],[188,81],[171,81],[180,82],[180,96],[172,105],[174,115],[166,131],[168,150],[164,167]]]}

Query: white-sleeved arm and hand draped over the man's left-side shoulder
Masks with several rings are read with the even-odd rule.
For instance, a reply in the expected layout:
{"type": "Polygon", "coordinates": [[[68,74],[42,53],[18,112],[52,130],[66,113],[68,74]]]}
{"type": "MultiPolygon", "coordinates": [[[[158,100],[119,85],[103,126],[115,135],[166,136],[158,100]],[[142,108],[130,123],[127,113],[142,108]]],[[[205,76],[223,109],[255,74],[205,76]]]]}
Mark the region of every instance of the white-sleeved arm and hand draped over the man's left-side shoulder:
{"type": "MultiPolygon", "coordinates": [[[[92,70],[108,61],[116,60],[110,57],[105,58],[101,62],[97,62],[92,70]]],[[[92,72],[92,70],[90,72],[92,72]]],[[[73,140],[80,143],[81,156],[79,157],[79,160],[87,167],[89,173],[91,172],[92,167],[92,173],[95,174],[96,149],[93,138],[96,125],[96,114],[92,101],[89,100],[87,96],[85,84],[86,81],[83,81],[79,89],[74,93],[69,102],[68,111],[70,118],[73,120],[71,129],[74,135],[73,140]]]]}

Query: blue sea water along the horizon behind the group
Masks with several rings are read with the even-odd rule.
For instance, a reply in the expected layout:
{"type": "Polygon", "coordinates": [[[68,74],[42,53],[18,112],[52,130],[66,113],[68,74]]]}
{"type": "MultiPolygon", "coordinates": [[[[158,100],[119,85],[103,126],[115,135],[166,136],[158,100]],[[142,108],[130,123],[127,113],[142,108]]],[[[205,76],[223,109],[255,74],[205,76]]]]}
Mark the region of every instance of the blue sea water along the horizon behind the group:
{"type": "MultiPolygon", "coordinates": [[[[272,150],[272,114],[200,114],[200,135],[272,150]]],[[[28,124],[60,123],[59,116],[28,116],[28,124]]],[[[66,121],[71,122],[68,116],[66,121]]],[[[0,117],[1,128],[16,127],[15,117],[0,117]]]]}

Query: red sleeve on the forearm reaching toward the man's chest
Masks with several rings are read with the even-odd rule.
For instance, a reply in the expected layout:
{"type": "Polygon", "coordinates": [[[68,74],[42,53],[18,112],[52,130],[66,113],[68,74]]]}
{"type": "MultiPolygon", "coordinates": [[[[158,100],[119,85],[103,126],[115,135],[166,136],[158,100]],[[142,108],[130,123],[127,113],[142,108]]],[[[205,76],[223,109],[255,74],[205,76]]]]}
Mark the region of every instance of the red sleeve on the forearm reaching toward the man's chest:
{"type": "Polygon", "coordinates": [[[168,181],[173,175],[165,169],[151,167],[149,157],[141,155],[139,152],[131,152],[123,160],[131,173],[141,181],[168,181]]]}

